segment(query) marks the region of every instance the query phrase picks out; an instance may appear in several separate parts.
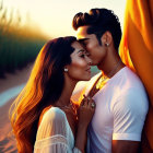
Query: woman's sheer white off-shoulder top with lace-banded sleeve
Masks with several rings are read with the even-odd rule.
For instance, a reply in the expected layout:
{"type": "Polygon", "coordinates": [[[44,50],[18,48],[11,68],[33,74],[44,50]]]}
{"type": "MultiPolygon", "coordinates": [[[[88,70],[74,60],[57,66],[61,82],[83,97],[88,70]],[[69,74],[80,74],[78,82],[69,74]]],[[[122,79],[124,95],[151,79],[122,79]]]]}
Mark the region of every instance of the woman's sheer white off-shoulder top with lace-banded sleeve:
{"type": "Polygon", "coordinates": [[[63,110],[51,107],[38,127],[34,153],[81,153],[63,110]]]}

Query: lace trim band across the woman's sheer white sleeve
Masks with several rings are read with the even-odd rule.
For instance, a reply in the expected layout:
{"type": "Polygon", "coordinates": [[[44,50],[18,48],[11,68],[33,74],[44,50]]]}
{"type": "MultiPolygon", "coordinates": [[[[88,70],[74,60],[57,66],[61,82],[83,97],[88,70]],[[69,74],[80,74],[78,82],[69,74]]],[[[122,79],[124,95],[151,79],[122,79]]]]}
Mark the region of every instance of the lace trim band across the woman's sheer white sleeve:
{"type": "Polygon", "coordinates": [[[44,148],[47,145],[59,144],[59,143],[68,145],[68,141],[67,141],[66,137],[60,136],[60,134],[56,134],[52,137],[48,137],[48,138],[38,140],[35,142],[35,149],[44,148]]]}

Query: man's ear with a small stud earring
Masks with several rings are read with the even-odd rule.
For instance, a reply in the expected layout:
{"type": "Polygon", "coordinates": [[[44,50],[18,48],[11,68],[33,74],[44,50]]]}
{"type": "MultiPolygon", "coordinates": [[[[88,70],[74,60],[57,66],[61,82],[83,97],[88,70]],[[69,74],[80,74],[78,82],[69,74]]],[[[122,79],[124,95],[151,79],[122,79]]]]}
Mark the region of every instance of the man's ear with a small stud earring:
{"type": "Polygon", "coordinates": [[[105,45],[106,47],[108,47],[111,44],[111,42],[113,42],[113,35],[111,35],[111,33],[108,32],[108,31],[105,32],[103,34],[101,40],[102,40],[103,45],[105,45]]]}

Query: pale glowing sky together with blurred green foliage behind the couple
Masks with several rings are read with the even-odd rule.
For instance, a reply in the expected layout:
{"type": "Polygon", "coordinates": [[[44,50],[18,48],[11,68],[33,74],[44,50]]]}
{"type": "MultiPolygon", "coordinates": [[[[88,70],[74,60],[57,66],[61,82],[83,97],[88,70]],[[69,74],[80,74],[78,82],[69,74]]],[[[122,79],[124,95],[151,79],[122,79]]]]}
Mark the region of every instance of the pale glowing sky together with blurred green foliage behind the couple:
{"type": "Polygon", "coordinates": [[[0,0],[0,78],[34,61],[46,40],[75,35],[73,15],[108,8],[121,27],[126,0],[0,0]]]}

